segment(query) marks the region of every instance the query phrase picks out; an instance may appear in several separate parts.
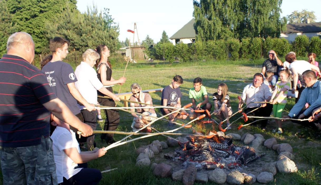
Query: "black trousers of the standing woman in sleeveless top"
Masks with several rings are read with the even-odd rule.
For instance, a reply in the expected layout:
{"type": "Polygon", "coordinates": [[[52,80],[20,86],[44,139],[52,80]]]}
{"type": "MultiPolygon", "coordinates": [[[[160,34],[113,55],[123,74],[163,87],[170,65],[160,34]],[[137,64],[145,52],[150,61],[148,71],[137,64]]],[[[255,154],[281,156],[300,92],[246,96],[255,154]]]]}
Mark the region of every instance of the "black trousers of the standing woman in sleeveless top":
{"type": "MultiPolygon", "coordinates": [[[[100,105],[115,107],[115,101],[109,98],[98,98],[97,99],[100,105]]],[[[104,109],[106,114],[105,126],[104,130],[116,130],[119,125],[119,112],[116,109],[104,109]]],[[[112,138],[114,136],[113,133],[111,134],[101,134],[100,138],[105,139],[112,138]]]]}

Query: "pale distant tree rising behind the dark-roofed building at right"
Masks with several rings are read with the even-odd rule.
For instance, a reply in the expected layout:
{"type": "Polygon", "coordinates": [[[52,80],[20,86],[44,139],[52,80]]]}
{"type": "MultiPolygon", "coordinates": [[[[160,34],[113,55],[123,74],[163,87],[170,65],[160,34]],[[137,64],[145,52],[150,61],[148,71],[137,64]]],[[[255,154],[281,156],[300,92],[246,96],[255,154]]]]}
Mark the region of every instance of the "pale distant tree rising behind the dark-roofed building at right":
{"type": "Polygon", "coordinates": [[[290,15],[287,16],[289,24],[294,23],[305,23],[305,20],[310,19],[310,22],[315,22],[317,17],[314,15],[314,12],[307,11],[306,9],[301,12],[294,11],[290,15]]]}

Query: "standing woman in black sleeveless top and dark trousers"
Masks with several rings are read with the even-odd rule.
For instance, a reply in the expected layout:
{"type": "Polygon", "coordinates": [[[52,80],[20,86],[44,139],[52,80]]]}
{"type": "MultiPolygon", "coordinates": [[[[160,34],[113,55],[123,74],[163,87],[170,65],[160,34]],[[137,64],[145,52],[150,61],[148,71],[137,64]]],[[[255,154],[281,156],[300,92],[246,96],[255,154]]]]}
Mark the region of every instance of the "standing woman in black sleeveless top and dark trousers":
{"type": "MultiPolygon", "coordinates": [[[[111,74],[111,64],[108,61],[109,49],[106,45],[101,44],[97,46],[96,51],[100,54],[100,59],[96,61],[97,68],[97,77],[103,85],[114,85],[114,84],[123,84],[126,81],[125,77],[121,77],[118,80],[115,80],[111,74]]],[[[107,87],[107,90],[113,92],[112,87],[107,87]]],[[[98,92],[98,95],[104,96],[104,94],[98,92]]],[[[100,105],[115,107],[115,101],[113,99],[107,98],[98,98],[97,99],[100,105]]],[[[104,130],[116,130],[119,124],[119,112],[114,109],[104,109],[106,114],[104,130]]],[[[106,143],[116,142],[113,138],[114,134],[101,134],[100,139],[105,140],[106,143]]]]}

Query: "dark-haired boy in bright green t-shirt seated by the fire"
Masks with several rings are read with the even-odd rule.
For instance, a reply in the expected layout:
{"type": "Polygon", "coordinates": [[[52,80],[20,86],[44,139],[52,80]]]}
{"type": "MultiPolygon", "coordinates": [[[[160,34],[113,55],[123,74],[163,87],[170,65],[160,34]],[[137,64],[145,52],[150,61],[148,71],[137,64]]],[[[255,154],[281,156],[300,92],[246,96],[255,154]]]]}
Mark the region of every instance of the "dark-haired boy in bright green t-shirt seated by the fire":
{"type": "Polygon", "coordinates": [[[208,102],[206,88],[202,84],[202,78],[196,77],[193,81],[194,87],[189,90],[189,98],[192,99],[193,107],[191,109],[190,118],[194,119],[197,116],[194,113],[196,109],[207,109],[211,111],[212,104],[208,102]]]}

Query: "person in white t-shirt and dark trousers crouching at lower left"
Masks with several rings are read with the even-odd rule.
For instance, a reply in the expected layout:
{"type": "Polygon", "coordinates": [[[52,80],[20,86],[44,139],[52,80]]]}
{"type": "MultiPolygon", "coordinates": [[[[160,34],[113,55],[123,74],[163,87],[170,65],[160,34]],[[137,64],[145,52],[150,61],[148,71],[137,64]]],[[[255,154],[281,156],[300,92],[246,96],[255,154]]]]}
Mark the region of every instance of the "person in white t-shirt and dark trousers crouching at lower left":
{"type": "Polygon", "coordinates": [[[56,174],[59,185],[95,185],[101,179],[98,169],[87,168],[87,162],[105,155],[104,148],[81,152],[75,133],[68,124],[53,117],[52,127],[56,129],[52,139],[56,174]]]}

